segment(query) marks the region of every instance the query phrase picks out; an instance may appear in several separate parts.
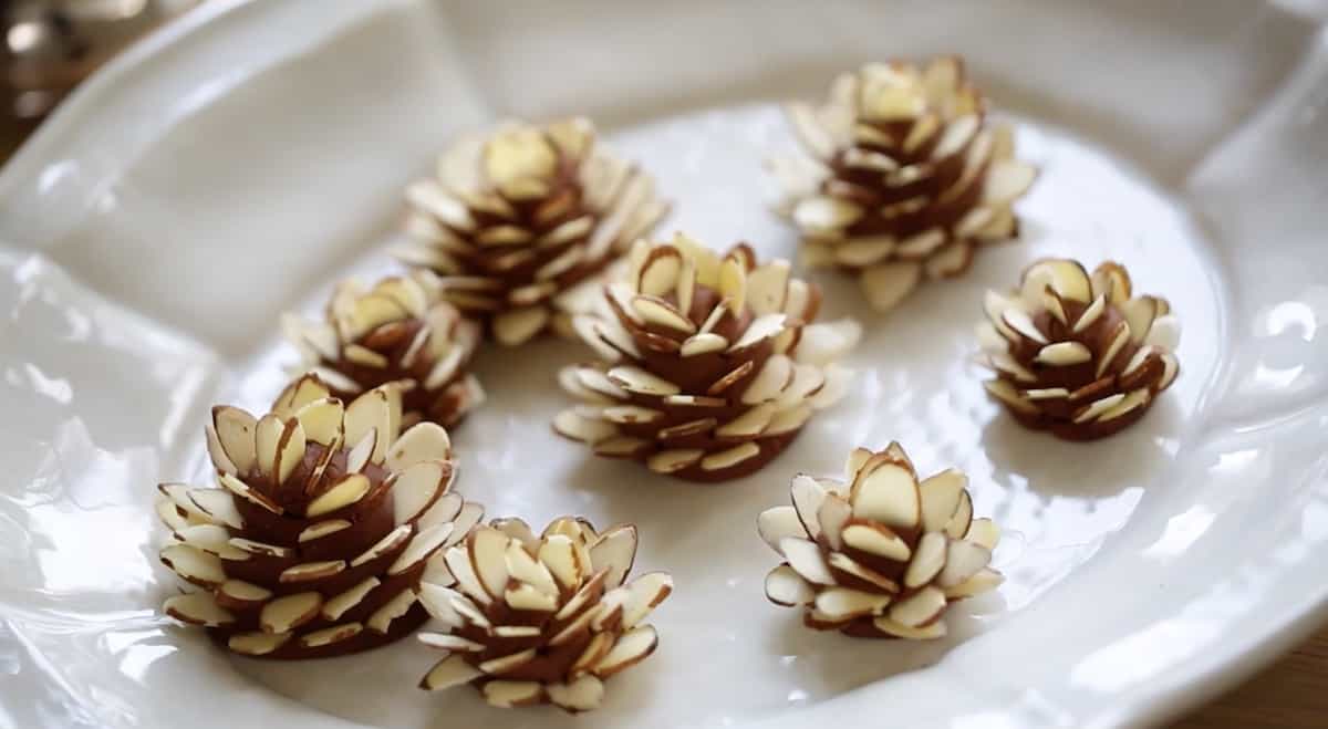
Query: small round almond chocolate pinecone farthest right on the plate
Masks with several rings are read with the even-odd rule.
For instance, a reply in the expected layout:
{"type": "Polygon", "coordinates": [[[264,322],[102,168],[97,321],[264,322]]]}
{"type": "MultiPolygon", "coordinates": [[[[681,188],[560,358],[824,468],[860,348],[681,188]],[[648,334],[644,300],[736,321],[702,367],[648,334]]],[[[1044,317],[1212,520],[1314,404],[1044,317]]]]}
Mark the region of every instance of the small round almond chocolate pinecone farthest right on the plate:
{"type": "Polygon", "coordinates": [[[1166,299],[1133,296],[1130,275],[1089,276],[1068,259],[1024,271],[1017,291],[987,292],[977,336],[996,378],[987,390],[1028,428],[1090,441],[1143,417],[1171,386],[1181,325],[1166,299]]]}

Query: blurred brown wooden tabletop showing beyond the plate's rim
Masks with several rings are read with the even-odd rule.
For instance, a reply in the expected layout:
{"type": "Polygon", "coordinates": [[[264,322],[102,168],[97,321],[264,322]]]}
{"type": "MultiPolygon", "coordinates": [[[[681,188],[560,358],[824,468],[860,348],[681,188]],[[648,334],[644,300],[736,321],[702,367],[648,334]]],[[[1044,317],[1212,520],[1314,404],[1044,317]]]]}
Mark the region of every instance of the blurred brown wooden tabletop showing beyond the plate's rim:
{"type": "MultiPolygon", "coordinates": [[[[0,163],[35,127],[0,118],[0,163]]],[[[1174,729],[1328,729],[1328,628],[1174,729]]]]}

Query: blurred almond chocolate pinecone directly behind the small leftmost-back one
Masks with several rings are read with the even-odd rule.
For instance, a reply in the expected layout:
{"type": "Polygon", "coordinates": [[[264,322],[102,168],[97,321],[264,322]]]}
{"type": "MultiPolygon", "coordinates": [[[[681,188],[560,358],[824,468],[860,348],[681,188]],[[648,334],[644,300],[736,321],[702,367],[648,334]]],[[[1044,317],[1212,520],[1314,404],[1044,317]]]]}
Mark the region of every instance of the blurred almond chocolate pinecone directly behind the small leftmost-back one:
{"type": "Polygon", "coordinates": [[[437,271],[442,297],[509,345],[546,327],[570,336],[599,274],[668,211],[583,118],[463,137],[406,201],[413,242],[397,256],[437,271]]]}

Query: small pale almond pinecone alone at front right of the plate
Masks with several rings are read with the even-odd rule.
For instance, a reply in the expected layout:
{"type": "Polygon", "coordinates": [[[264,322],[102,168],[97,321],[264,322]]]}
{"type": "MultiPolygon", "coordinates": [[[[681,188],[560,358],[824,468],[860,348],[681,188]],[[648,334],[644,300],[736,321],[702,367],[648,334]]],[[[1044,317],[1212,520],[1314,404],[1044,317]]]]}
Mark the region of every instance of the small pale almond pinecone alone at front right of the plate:
{"type": "Polygon", "coordinates": [[[847,482],[799,474],[793,506],[764,511],[761,538],[785,563],[765,578],[802,621],[855,637],[946,635],[946,607],[1001,583],[988,567],[1000,535],[973,518],[968,478],[954,469],[918,481],[899,444],[855,449],[847,482]]]}

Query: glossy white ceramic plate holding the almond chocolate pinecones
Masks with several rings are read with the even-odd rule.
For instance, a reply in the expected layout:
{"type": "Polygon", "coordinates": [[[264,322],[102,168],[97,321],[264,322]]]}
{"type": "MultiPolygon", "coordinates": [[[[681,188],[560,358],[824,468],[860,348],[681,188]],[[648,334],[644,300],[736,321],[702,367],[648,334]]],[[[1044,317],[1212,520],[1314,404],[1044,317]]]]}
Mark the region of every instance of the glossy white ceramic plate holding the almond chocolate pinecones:
{"type": "Polygon", "coordinates": [[[1313,628],[1328,584],[1328,33],[1313,3],[635,5],[210,3],[112,64],[0,173],[0,726],[1108,726],[1161,720],[1313,628]],[[1317,13],[1317,19],[1315,17],[1317,13]],[[853,397],[757,477],[688,486],[547,425],[576,347],[490,352],[456,433],[491,515],[635,521],[677,591],[596,714],[414,688],[404,641],[323,663],[211,649],[155,607],[162,478],[203,475],[218,401],[259,408],[276,315],[390,268],[400,189],[454,131],[595,117],[665,226],[791,255],[761,159],[773,101],[862,60],[959,50],[1042,166],[1025,235],[863,319],[853,397]],[[1045,254],[1123,262],[1181,315],[1183,373],[1137,426],[1021,430],[967,364],[985,287],[1045,254]],[[899,438],[1007,528],[999,594],[942,643],[811,633],[756,536],[797,470],[899,438]]]}

